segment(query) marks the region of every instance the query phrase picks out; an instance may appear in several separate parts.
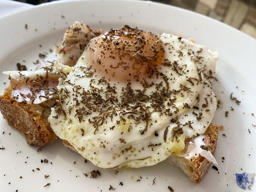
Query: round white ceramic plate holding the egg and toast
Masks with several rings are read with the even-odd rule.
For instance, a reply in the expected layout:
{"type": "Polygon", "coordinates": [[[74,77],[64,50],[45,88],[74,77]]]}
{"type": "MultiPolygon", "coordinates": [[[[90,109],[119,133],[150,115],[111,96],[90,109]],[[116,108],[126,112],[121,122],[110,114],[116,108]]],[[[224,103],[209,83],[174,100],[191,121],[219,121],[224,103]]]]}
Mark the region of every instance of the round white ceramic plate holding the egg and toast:
{"type": "MultiPolygon", "coordinates": [[[[1,118],[0,147],[5,149],[0,150],[0,190],[100,192],[108,191],[112,185],[115,191],[169,191],[168,186],[174,191],[242,191],[236,185],[235,174],[256,172],[253,140],[256,128],[252,125],[256,124],[256,41],[216,20],[162,4],[118,0],[54,2],[0,18],[0,71],[16,70],[17,62],[24,63],[28,69],[37,67],[33,62],[39,59],[38,54],[49,53],[49,48],[61,42],[67,27],[76,20],[83,20],[94,29],[109,30],[128,24],[155,33],[180,34],[219,52],[216,66],[219,81],[213,85],[222,101],[213,123],[224,126],[219,131],[215,155],[219,173],[210,168],[204,180],[196,185],[180,168],[167,162],[140,169],[119,169],[118,173],[100,169],[90,162],[84,163],[84,158],[65,148],[60,140],[37,152],[1,118]],[[230,99],[232,92],[241,101],[240,105],[230,99]],[[229,111],[228,117],[225,111],[229,111]],[[48,163],[41,163],[45,158],[48,163]],[[96,179],[89,177],[94,169],[101,172],[96,179]],[[45,179],[44,175],[49,177],[45,179]],[[141,181],[137,182],[140,176],[141,181]],[[43,187],[47,183],[50,186],[43,187]]],[[[44,60],[52,59],[55,54],[49,53],[44,60]]],[[[2,93],[9,80],[2,74],[0,77],[2,93]]],[[[256,190],[256,186],[251,189],[256,190]]]]}

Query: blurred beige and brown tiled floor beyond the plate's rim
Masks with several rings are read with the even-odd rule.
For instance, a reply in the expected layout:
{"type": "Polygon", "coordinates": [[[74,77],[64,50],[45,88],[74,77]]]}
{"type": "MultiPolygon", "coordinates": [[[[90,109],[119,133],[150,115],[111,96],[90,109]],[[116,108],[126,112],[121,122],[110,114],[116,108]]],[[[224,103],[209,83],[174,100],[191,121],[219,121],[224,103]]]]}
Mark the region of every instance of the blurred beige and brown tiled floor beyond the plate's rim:
{"type": "MultiPolygon", "coordinates": [[[[17,0],[38,4],[54,0],[17,0]]],[[[256,0],[152,0],[222,21],[256,39],[256,0]]]]}

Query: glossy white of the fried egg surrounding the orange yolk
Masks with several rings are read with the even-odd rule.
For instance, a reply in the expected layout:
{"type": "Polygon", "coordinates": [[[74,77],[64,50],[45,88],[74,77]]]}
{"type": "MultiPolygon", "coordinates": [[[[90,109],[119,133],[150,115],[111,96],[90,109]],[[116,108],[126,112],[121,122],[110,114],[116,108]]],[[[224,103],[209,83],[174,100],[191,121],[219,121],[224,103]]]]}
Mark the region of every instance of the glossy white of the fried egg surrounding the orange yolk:
{"type": "MultiPolygon", "coordinates": [[[[91,111],[91,114],[84,115],[82,121],[78,118],[77,110],[87,106],[81,102],[84,92],[89,93],[94,87],[100,90],[99,94],[106,100],[104,93],[107,90],[107,85],[99,83],[102,77],[95,71],[93,71],[93,75],[88,76],[89,66],[92,64],[85,60],[87,50],[81,55],[67,78],[59,81],[58,93],[62,100],[61,108],[64,113],[59,113],[57,108],[52,108],[48,121],[58,137],[69,141],[76,151],[94,165],[102,168],[155,165],[165,160],[173,152],[178,153],[183,150],[186,138],[203,134],[209,126],[216,109],[216,99],[211,89],[210,79],[206,80],[203,73],[198,72],[198,69],[204,69],[204,73],[207,74],[209,71],[214,73],[218,54],[175,35],[161,34],[159,39],[164,44],[165,59],[170,62],[176,61],[179,66],[182,66],[183,74],[178,74],[175,69],[165,65],[159,66],[159,73],[169,77],[170,91],[179,90],[180,85],[186,86],[189,91],[171,95],[171,98],[176,97],[176,101],[173,103],[175,107],[168,106],[168,101],[165,101],[165,109],[170,109],[170,112],[173,113],[172,116],[165,115],[163,111],[155,112],[151,107],[151,102],[144,102],[143,104],[149,107],[148,110],[151,113],[149,126],[144,134],[141,134],[140,130],[144,129],[146,122],[138,123],[127,116],[125,120],[120,119],[120,109],[116,105],[109,105],[115,108],[116,112],[112,118],[106,117],[104,123],[98,126],[96,131],[91,121],[99,116],[97,112],[91,111]],[[195,82],[192,85],[187,81],[189,77],[202,78],[202,82],[198,84],[195,82]],[[80,87],[79,90],[77,87],[80,87]],[[206,105],[205,98],[207,98],[208,104],[203,108],[202,106],[206,105]],[[184,107],[184,104],[190,108],[184,107]],[[200,112],[203,115],[198,120],[200,112]],[[177,119],[177,121],[172,123],[172,119],[177,119]],[[117,123],[119,121],[120,123],[117,123]],[[187,122],[190,122],[192,128],[187,122]],[[115,127],[112,128],[113,126],[115,127]],[[176,135],[176,139],[173,140],[172,130],[177,126],[182,127],[183,134],[176,135]],[[129,127],[131,127],[130,130],[129,127]],[[166,140],[164,140],[165,134],[166,140]]],[[[163,79],[161,77],[146,78],[146,81],[156,85],[161,84],[163,79]]],[[[127,82],[114,80],[108,82],[112,87],[116,87],[116,93],[112,94],[120,101],[122,88],[127,86],[127,82]]],[[[140,82],[133,82],[130,86],[133,90],[143,91],[144,89],[140,82]]],[[[156,86],[149,87],[145,94],[150,95],[155,90],[156,86]]]]}

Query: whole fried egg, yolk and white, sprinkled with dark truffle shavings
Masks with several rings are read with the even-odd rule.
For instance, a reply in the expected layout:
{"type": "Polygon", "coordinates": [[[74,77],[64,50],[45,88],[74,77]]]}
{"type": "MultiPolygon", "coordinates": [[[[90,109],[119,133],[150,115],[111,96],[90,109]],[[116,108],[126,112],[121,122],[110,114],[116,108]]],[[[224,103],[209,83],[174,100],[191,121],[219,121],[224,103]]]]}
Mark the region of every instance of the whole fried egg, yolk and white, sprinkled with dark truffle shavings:
{"type": "Polygon", "coordinates": [[[216,109],[218,53],[182,37],[124,26],[94,37],[48,118],[94,165],[155,165],[205,132],[216,109]]]}

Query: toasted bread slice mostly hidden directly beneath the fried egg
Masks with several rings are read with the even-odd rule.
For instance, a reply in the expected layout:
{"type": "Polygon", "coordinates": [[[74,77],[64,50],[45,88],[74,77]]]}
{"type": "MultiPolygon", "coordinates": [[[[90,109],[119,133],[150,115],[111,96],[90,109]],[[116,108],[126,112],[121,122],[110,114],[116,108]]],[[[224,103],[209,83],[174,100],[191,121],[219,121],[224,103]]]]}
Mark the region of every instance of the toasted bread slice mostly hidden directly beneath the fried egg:
{"type": "MultiPolygon", "coordinates": [[[[212,155],[215,154],[218,132],[219,126],[214,125],[212,123],[205,132],[205,134],[207,134],[210,138],[210,144],[208,147],[212,155]]],[[[76,151],[76,149],[67,140],[62,140],[62,143],[65,147],[70,148],[73,151],[76,151]]],[[[190,159],[186,159],[184,157],[177,157],[176,155],[171,155],[167,158],[167,161],[172,165],[180,167],[187,174],[187,176],[189,176],[189,178],[197,184],[204,179],[204,176],[208,172],[211,164],[211,162],[209,162],[206,158],[202,157],[201,155],[199,155],[198,157],[192,157],[190,159]]]]}

